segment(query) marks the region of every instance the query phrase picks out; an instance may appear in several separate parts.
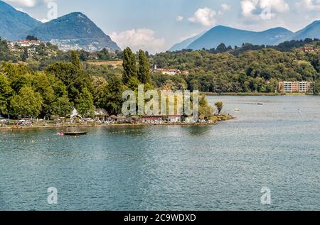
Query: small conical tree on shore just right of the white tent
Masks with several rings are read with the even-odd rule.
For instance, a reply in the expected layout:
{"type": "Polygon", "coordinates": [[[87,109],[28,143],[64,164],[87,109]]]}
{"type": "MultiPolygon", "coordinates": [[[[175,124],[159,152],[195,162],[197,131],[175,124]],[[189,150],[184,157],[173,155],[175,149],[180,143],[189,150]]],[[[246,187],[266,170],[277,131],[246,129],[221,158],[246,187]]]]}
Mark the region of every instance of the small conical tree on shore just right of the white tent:
{"type": "Polygon", "coordinates": [[[77,109],[82,116],[92,116],[93,111],[95,110],[95,105],[93,104],[92,94],[87,88],[82,90],[77,102],[77,109]]]}

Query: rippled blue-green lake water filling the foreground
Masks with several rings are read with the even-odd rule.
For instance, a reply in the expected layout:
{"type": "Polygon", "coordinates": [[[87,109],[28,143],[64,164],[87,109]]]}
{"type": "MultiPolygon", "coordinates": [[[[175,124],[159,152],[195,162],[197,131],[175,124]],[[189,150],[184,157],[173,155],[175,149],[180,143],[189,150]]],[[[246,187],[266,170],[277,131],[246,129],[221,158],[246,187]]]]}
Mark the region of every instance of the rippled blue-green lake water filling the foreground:
{"type": "Polygon", "coordinates": [[[0,210],[320,209],[320,97],[209,100],[237,119],[88,128],[79,138],[0,131],[0,210]]]}

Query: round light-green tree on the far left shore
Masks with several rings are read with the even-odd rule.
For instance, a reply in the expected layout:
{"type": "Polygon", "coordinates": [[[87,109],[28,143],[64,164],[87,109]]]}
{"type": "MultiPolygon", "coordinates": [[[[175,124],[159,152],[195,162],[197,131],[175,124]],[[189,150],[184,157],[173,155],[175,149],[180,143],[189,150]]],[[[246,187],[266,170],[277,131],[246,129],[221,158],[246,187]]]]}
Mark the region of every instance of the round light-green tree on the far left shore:
{"type": "Polygon", "coordinates": [[[24,86],[14,95],[10,103],[10,113],[14,116],[37,117],[41,113],[43,99],[32,87],[24,86]]]}

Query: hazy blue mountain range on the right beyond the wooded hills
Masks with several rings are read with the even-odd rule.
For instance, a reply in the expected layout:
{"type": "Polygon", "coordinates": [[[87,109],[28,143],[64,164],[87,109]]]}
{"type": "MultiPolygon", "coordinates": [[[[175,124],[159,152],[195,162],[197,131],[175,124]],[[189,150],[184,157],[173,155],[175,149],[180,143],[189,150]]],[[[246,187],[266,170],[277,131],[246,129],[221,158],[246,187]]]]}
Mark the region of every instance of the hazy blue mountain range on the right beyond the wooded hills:
{"type": "Polygon", "coordinates": [[[320,21],[314,21],[301,31],[292,32],[285,28],[272,28],[267,31],[245,31],[228,26],[215,26],[206,33],[197,35],[193,38],[183,40],[174,45],[170,50],[202,48],[216,48],[220,43],[225,45],[241,46],[242,43],[252,45],[278,45],[286,40],[304,40],[306,38],[320,38],[320,21]]]}

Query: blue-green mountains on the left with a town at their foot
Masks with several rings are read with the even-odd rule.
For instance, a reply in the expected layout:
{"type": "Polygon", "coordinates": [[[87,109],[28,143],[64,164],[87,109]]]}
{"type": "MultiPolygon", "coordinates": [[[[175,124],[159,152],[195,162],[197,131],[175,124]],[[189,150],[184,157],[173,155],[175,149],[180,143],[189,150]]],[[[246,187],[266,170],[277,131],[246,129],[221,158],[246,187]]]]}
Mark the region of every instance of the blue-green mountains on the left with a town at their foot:
{"type": "Polygon", "coordinates": [[[0,37],[14,41],[24,39],[27,35],[34,35],[65,50],[120,50],[117,43],[83,13],[69,13],[41,23],[0,0],[0,37]]]}

